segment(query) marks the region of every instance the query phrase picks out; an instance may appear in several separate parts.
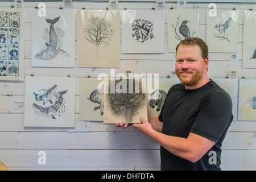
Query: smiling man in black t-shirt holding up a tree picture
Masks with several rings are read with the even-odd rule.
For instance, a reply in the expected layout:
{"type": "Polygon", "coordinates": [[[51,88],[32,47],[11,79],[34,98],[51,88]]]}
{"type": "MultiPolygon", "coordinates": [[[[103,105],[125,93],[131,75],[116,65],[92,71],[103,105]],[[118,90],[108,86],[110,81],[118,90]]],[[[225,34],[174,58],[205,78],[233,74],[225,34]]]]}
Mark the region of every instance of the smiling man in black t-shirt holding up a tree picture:
{"type": "Polygon", "coordinates": [[[168,91],[158,118],[141,118],[142,124],[133,124],[161,145],[162,170],[221,169],[221,145],[233,120],[232,101],[208,78],[208,64],[208,46],[203,40],[181,40],[175,64],[181,84],[168,91]]]}

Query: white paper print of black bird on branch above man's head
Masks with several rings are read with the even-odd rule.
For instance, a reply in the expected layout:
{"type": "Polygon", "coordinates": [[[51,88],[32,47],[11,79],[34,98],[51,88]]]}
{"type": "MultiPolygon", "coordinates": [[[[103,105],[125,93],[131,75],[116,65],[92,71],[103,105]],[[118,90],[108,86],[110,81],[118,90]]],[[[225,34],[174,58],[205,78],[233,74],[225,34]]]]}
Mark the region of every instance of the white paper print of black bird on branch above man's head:
{"type": "Polygon", "coordinates": [[[176,9],[166,12],[168,52],[176,52],[176,46],[181,40],[200,36],[198,9],[176,9]]]}

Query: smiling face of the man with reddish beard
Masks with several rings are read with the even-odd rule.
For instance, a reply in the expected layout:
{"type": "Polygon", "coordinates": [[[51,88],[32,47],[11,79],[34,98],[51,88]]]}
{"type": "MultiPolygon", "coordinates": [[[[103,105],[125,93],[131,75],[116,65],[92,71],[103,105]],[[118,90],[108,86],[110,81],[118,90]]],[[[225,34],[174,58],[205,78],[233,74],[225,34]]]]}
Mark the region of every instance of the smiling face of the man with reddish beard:
{"type": "Polygon", "coordinates": [[[201,57],[199,46],[180,45],[176,52],[175,72],[185,86],[195,86],[207,77],[208,58],[201,57]]]}

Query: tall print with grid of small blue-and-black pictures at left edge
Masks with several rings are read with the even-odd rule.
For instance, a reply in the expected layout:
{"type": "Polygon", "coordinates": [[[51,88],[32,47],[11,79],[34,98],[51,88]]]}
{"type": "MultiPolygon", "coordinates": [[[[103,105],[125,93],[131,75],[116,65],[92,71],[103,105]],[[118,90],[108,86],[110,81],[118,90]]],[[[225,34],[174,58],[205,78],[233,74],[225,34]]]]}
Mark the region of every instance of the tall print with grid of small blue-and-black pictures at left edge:
{"type": "Polygon", "coordinates": [[[0,80],[24,80],[24,9],[0,8],[0,80]]]}

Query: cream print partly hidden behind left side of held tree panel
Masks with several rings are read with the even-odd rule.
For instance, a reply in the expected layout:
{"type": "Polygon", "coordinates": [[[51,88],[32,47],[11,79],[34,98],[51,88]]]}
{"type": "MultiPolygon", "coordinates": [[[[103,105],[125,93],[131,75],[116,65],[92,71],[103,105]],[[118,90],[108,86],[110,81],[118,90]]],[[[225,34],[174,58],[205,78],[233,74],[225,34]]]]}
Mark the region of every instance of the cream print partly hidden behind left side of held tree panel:
{"type": "Polygon", "coordinates": [[[80,121],[103,121],[104,81],[97,78],[80,78],[80,121]],[[100,88],[98,88],[98,85],[100,88]]]}

